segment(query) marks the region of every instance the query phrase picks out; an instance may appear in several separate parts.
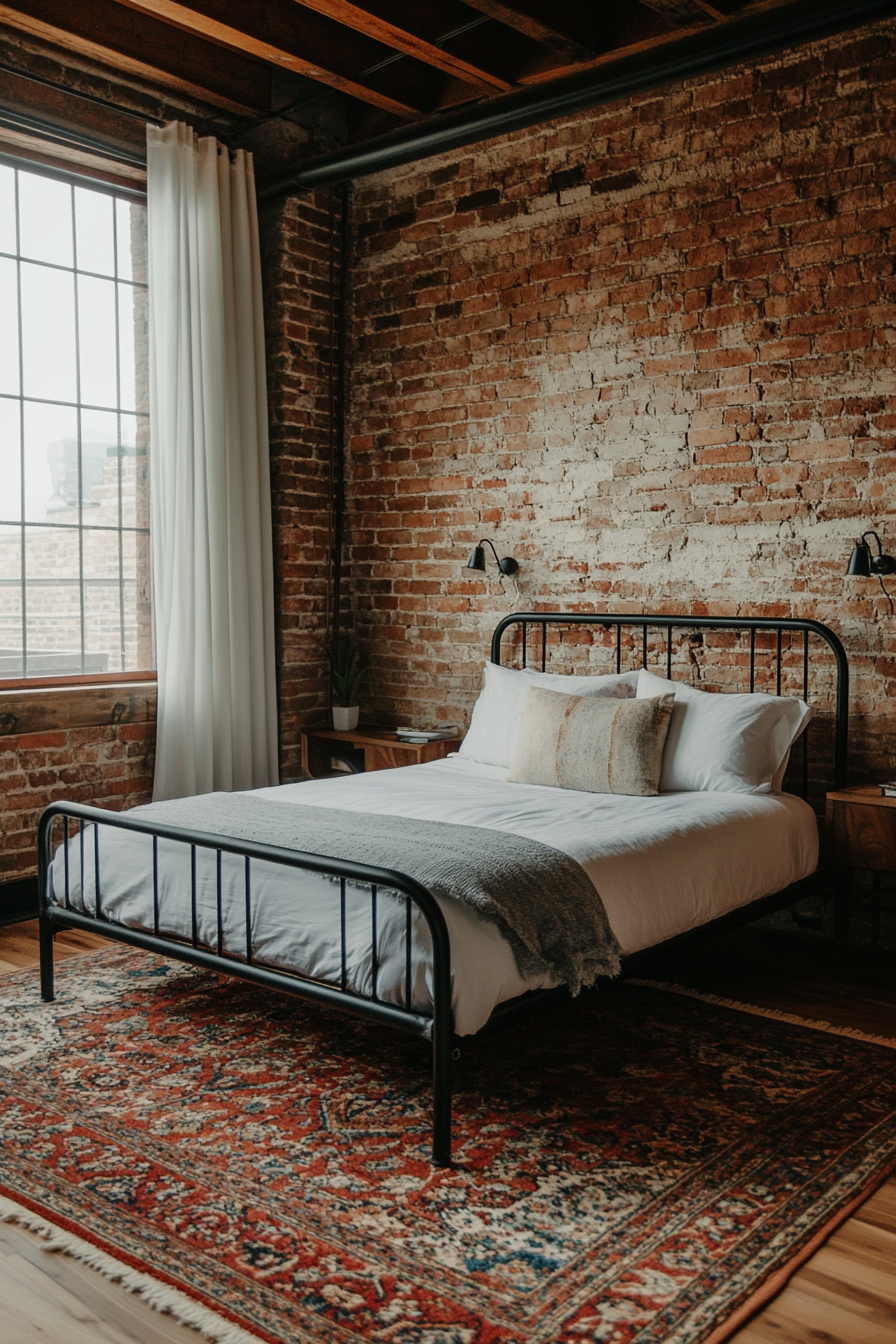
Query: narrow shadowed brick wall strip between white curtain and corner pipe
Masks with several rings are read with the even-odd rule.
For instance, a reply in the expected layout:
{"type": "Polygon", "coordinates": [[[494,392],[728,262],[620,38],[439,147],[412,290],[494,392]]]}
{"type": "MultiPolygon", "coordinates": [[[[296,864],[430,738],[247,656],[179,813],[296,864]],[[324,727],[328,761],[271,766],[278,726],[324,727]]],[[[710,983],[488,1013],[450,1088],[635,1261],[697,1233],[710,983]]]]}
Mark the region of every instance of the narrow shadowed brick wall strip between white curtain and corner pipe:
{"type": "Polygon", "coordinates": [[[339,220],[326,190],[261,218],[283,781],[301,778],[301,728],[328,704],[339,220]]]}

